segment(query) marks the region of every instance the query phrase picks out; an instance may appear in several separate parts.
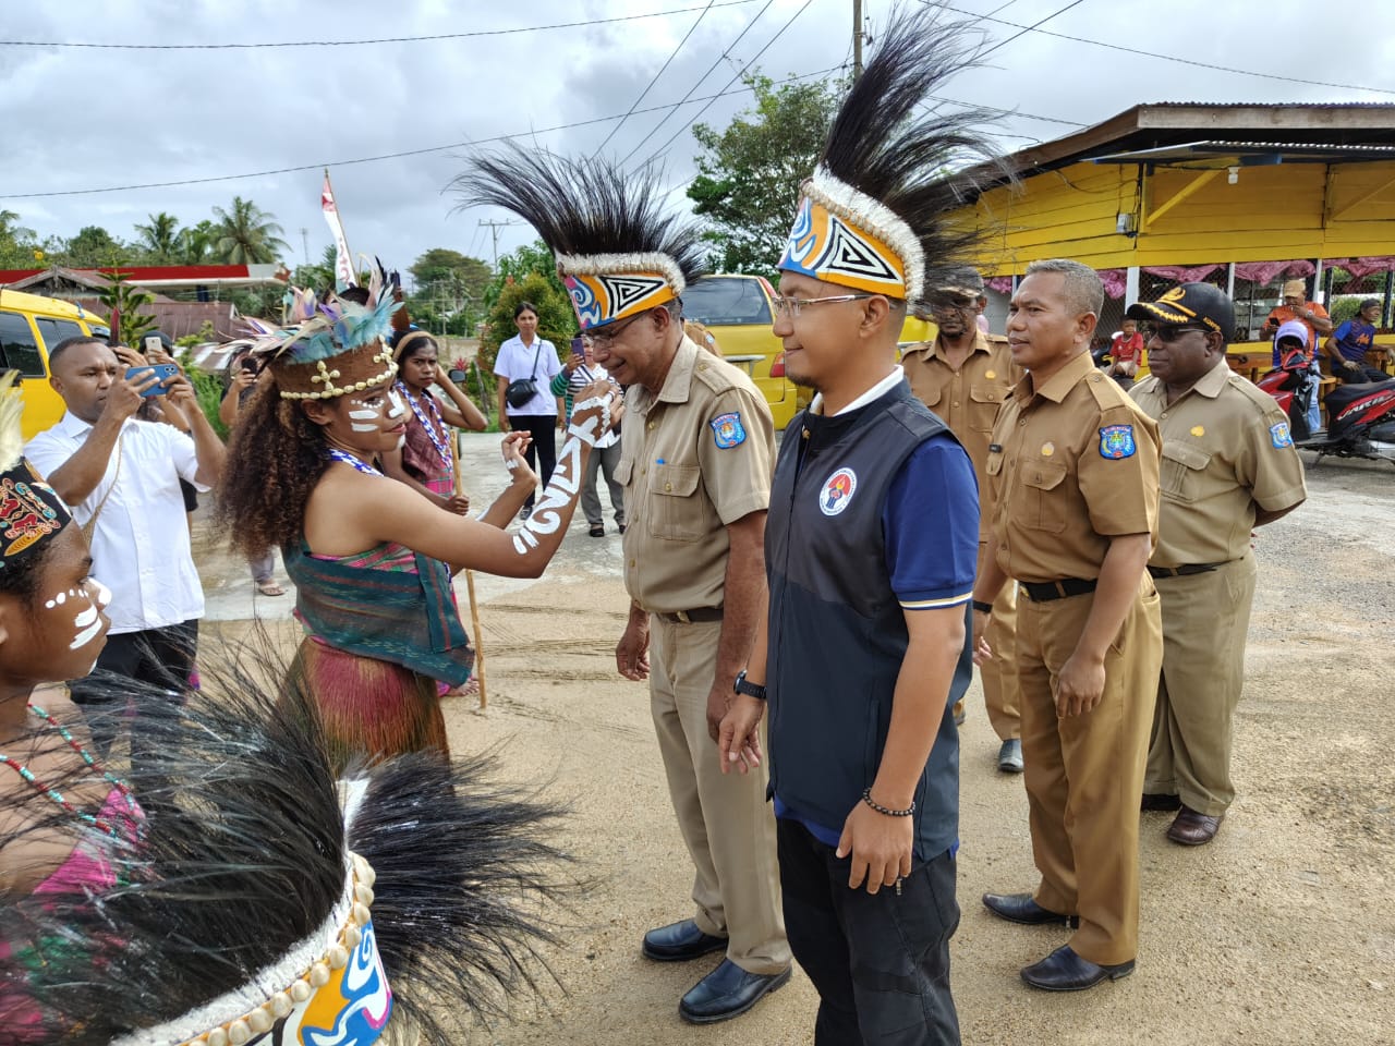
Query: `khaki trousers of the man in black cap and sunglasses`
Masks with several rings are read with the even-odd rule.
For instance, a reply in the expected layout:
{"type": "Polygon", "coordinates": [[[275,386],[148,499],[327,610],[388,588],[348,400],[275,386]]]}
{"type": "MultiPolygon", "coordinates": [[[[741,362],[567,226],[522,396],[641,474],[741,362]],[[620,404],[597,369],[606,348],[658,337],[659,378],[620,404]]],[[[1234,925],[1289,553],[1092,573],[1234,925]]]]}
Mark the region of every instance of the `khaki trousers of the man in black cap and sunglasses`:
{"type": "Polygon", "coordinates": [[[1254,601],[1254,555],[1215,570],[1158,577],[1162,676],[1143,789],[1177,795],[1212,817],[1235,799],[1230,743],[1244,686],[1244,640],[1254,601]]]}

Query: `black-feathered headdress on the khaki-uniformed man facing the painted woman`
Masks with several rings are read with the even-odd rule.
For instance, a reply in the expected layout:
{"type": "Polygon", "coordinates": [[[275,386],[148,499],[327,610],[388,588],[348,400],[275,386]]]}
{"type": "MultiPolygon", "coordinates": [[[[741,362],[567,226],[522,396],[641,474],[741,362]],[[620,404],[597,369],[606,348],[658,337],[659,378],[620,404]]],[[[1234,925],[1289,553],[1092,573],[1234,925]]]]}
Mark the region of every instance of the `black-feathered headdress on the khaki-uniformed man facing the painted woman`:
{"type": "Polygon", "coordinates": [[[453,183],[462,205],[492,204],[537,230],[583,331],[663,305],[703,271],[695,226],[664,211],[657,167],[626,173],[515,144],[469,165],[453,183]]]}

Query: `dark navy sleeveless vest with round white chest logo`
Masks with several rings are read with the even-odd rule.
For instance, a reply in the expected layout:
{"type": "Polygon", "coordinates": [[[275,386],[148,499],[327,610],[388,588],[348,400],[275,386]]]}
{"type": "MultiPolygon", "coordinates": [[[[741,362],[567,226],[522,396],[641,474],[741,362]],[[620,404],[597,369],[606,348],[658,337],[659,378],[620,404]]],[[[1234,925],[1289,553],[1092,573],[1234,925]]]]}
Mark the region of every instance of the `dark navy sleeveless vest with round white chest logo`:
{"type": "MultiPolygon", "coordinates": [[[[949,432],[901,382],[872,403],[785,430],[770,491],[766,683],[770,789],[792,813],[840,830],[876,778],[905,657],[882,512],[907,457],[949,432]]],[[[972,674],[970,642],[915,789],[915,859],[958,837],[958,731],[951,706],[972,674]]]]}

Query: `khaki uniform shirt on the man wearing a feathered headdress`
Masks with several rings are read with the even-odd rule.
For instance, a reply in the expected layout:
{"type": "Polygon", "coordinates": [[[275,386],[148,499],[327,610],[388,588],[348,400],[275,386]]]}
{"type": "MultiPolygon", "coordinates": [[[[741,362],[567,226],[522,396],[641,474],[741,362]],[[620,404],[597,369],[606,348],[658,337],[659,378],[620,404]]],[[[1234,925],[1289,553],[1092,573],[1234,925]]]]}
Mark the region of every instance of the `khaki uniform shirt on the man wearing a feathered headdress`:
{"type": "Polygon", "coordinates": [[[770,506],[770,407],[738,367],[684,338],[657,395],[625,393],[625,589],[651,614],[723,605],[727,524],[770,506]]]}

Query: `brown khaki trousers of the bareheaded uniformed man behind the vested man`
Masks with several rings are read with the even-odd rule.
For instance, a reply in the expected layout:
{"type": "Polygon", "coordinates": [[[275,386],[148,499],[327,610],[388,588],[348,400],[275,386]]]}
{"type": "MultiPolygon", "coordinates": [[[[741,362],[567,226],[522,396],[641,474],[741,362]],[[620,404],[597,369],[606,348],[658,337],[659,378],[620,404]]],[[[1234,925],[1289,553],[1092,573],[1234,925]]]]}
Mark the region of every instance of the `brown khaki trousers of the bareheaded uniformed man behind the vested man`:
{"type": "Polygon", "coordinates": [[[1084,715],[1056,718],[1056,679],[1085,628],[1092,593],[1017,614],[1023,761],[1036,904],[1078,915],[1070,947],[1101,965],[1138,954],[1138,802],[1162,664],[1158,593],[1144,573],[1105,654],[1105,690],[1084,715]]]}

